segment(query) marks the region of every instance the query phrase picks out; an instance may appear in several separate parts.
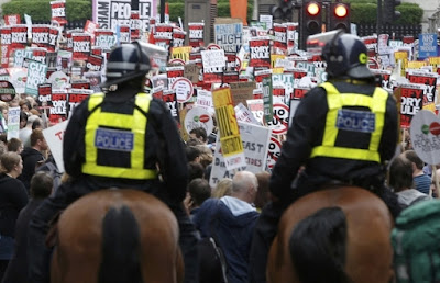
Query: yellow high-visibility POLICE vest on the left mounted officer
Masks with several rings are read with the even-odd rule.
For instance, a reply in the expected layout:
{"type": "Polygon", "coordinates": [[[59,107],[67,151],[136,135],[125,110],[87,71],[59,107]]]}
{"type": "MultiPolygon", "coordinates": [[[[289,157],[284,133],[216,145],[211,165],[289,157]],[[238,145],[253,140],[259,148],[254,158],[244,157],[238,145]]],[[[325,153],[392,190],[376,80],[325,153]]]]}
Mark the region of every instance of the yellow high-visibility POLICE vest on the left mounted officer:
{"type": "Polygon", "coordinates": [[[103,99],[103,93],[94,93],[88,101],[91,114],[86,124],[86,162],[82,172],[99,177],[155,179],[156,170],[144,169],[146,113],[152,97],[138,93],[132,115],[101,112],[103,99]],[[99,149],[130,152],[130,168],[98,165],[99,149]]]}

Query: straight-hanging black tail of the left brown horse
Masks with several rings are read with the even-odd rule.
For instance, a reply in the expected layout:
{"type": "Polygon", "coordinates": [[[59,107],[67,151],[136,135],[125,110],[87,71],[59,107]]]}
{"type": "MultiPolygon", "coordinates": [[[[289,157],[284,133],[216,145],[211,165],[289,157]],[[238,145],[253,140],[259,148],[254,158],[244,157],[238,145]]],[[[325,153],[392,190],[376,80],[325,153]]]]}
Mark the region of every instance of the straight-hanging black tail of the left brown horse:
{"type": "Polygon", "coordinates": [[[131,210],[110,207],[102,219],[99,283],[142,283],[140,230],[131,210]]]}

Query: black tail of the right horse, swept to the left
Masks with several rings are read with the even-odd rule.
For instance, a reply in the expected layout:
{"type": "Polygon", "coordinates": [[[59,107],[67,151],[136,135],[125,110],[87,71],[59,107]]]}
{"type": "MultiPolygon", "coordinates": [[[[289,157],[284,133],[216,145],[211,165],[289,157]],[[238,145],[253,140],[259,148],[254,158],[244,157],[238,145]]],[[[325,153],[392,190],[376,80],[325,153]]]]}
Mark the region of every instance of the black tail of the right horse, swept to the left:
{"type": "Polygon", "coordinates": [[[351,282],[344,271],[346,218],[338,207],[324,207],[300,220],[289,238],[289,252],[301,282],[351,282]]]}

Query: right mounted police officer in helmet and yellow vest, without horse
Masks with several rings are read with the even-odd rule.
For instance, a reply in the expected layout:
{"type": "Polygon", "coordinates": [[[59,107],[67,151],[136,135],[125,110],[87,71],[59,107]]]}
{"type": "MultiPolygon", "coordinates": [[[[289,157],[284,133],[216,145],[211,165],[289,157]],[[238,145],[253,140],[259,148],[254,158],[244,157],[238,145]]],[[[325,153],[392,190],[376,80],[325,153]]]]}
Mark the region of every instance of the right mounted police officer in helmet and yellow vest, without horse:
{"type": "Polygon", "coordinates": [[[315,42],[323,46],[328,81],[301,100],[287,132],[272,172],[273,202],[255,227],[250,282],[265,282],[279,218],[290,203],[309,192],[329,184],[356,185],[383,199],[393,216],[399,213],[395,194],[385,186],[385,163],[398,140],[396,101],[376,87],[366,67],[366,46],[358,36],[333,31],[315,42]]]}

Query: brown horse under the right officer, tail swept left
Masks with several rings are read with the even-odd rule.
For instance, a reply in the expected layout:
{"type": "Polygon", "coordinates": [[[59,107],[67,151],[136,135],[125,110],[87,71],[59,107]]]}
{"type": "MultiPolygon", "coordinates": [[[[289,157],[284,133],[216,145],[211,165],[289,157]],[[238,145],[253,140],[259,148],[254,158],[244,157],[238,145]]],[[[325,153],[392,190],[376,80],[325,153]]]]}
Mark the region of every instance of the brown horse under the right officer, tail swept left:
{"type": "Polygon", "coordinates": [[[310,193],[280,219],[267,282],[389,282],[392,228],[385,203],[364,189],[310,193]]]}

